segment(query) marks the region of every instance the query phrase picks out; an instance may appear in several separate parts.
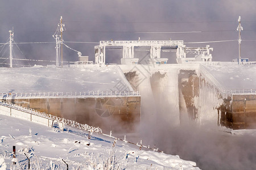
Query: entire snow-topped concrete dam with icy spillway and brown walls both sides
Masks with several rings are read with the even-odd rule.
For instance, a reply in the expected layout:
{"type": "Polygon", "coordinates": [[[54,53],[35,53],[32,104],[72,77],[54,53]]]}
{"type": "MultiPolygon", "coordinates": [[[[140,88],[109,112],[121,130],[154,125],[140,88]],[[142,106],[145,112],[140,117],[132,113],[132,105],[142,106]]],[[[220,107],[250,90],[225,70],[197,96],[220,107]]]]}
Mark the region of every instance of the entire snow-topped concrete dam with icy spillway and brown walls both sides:
{"type": "MultiPolygon", "coordinates": [[[[0,96],[113,133],[135,133],[140,126],[160,126],[163,120],[177,126],[210,121],[231,129],[255,129],[255,90],[225,87],[229,86],[226,82],[240,80],[241,73],[255,66],[240,66],[239,75],[234,70],[225,74],[222,68],[229,67],[234,66],[195,63],[2,68],[0,76],[5,84],[1,84],[4,88],[0,96]]],[[[243,78],[247,85],[247,80],[254,84],[253,78],[243,78]]]]}

